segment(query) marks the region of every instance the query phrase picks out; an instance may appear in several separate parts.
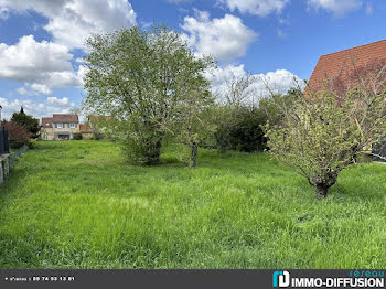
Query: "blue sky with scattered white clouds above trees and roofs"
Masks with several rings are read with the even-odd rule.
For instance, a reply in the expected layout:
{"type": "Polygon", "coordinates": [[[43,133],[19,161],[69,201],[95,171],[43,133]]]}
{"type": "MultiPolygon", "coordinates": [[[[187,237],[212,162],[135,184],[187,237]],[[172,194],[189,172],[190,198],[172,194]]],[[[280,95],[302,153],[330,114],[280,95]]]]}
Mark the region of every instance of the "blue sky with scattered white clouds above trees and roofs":
{"type": "Polygon", "coordinates": [[[386,39],[385,17],[385,0],[0,0],[1,117],[78,108],[89,33],[167,24],[215,57],[214,92],[247,73],[285,92],[321,55],[386,39]]]}

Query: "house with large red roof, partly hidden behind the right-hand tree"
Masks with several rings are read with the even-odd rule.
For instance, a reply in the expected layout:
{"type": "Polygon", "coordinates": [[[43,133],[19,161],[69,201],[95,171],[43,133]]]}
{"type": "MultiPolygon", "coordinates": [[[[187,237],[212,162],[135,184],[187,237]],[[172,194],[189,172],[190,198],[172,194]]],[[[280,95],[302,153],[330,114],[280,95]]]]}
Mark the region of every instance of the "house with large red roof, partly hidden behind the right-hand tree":
{"type": "MultiPolygon", "coordinates": [[[[304,93],[307,95],[310,90],[319,90],[324,88],[324,85],[330,87],[332,85],[337,97],[344,96],[347,89],[358,85],[357,75],[364,76],[368,72],[378,72],[385,66],[386,40],[322,55],[304,93]],[[328,79],[332,82],[325,83],[328,79]]],[[[373,153],[386,157],[386,141],[373,146],[373,153]]]]}

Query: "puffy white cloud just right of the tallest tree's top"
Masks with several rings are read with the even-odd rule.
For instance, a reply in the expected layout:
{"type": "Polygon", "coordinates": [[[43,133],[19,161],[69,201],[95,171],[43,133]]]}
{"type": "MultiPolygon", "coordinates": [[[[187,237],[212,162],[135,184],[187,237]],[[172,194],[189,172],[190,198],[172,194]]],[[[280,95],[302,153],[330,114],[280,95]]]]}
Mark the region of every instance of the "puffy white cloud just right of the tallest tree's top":
{"type": "Polygon", "coordinates": [[[218,61],[233,61],[244,56],[258,34],[243,24],[242,19],[225,14],[210,19],[210,13],[195,10],[194,17],[185,17],[181,28],[199,55],[212,54],[218,61]]]}

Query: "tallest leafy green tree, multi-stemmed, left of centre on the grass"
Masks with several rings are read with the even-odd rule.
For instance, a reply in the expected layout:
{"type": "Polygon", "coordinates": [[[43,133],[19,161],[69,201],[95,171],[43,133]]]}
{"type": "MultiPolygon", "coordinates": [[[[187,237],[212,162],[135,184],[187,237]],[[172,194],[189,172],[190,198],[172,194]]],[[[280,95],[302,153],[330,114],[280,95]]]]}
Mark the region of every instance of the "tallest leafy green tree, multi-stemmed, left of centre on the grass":
{"type": "Polygon", "coordinates": [[[212,58],[197,58],[181,35],[165,26],[95,34],[87,46],[84,108],[114,117],[111,129],[131,162],[158,163],[181,92],[204,79],[212,58]]]}

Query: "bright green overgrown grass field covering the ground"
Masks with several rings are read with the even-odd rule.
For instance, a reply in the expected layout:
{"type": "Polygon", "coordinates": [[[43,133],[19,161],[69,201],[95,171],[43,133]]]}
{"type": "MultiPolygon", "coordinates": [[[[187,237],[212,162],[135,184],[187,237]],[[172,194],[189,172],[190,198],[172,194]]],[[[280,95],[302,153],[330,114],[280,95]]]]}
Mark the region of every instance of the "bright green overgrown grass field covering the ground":
{"type": "Polygon", "coordinates": [[[152,168],[117,143],[40,142],[0,189],[0,268],[386,268],[386,165],[323,201],[266,154],[174,148],[152,168]]]}

